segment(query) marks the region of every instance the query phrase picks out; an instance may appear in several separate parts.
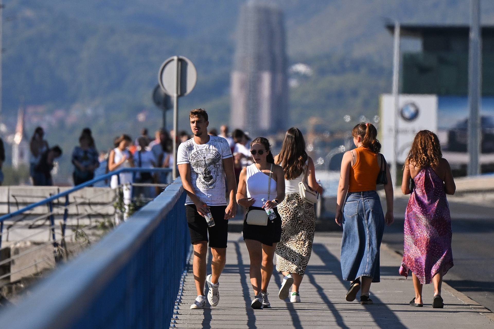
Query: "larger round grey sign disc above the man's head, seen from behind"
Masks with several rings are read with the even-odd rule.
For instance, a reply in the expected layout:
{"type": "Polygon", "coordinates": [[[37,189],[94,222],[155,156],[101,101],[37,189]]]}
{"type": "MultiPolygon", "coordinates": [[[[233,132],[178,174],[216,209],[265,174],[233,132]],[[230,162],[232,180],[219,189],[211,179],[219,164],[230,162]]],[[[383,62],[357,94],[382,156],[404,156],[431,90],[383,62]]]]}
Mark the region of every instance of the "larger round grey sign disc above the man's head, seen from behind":
{"type": "Polygon", "coordinates": [[[185,96],[194,89],[197,71],[194,63],[183,56],[172,56],[165,60],[158,73],[158,82],[170,96],[185,96]]]}

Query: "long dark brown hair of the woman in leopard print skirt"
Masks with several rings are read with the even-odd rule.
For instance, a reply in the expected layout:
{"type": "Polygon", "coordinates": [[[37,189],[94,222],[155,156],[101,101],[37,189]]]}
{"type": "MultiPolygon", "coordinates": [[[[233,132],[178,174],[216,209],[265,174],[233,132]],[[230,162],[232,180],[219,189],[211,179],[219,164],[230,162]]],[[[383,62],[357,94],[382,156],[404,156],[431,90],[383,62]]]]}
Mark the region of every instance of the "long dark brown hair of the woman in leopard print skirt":
{"type": "Polygon", "coordinates": [[[291,127],[285,134],[278,164],[285,171],[285,179],[295,179],[305,169],[305,162],[309,156],[305,151],[305,140],[300,129],[291,127]]]}

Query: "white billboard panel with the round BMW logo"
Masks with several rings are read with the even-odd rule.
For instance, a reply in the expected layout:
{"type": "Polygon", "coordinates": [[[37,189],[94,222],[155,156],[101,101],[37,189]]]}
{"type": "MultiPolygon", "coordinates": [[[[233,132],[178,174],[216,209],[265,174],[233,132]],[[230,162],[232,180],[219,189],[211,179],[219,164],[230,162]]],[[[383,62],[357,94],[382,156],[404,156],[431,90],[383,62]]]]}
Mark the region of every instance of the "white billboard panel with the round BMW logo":
{"type": "MultiPolygon", "coordinates": [[[[423,129],[437,132],[436,95],[401,94],[398,98],[398,162],[404,163],[415,134],[423,129]]],[[[395,99],[382,94],[379,99],[379,141],[381,153],[389,164],[393,163],[393,131],[395,125],[395,99]]]]}

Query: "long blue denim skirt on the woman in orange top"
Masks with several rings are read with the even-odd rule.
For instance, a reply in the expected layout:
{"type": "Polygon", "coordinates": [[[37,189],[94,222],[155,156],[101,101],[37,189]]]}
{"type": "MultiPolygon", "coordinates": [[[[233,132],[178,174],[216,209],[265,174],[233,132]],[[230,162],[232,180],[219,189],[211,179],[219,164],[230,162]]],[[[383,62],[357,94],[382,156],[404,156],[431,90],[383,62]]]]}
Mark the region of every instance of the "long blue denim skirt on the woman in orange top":
{"type": "Polygon", "coordinates": [[[384,233],[384,213],[376,191],[350,192],[343,208],[341,273],[343,280],[362,276],[380,281],[379,248],[384,233]]]}

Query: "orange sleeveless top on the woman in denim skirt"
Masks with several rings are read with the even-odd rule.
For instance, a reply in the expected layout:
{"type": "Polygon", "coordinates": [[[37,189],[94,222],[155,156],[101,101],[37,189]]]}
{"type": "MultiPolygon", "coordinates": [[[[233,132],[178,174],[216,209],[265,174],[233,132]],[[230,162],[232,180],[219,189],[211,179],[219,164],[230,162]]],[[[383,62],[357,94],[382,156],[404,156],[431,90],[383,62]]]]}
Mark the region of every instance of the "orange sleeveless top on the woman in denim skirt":
{"type": "Polygon", "coordinates": [[[365,192],[376,189],[379,165],[377,154],[364,147],[353,149],[357,161],[350,167],[350,184],[348,192],[365,192]]]}

